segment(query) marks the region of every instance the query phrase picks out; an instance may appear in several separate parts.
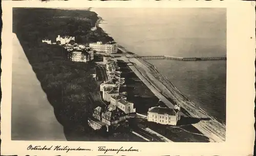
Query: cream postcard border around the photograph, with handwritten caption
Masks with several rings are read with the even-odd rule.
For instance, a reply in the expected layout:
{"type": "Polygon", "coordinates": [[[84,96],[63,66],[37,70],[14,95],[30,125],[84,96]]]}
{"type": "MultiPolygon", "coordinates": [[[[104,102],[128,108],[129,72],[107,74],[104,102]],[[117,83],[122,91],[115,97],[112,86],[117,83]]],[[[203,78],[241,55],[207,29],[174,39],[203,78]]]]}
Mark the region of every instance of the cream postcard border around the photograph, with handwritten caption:
{"type": "MultiPolygon", "coordinates": [[[[66,2],[2,2],[2,101],[1,151],[3,155],[104,155],[98,146],[108,148],[133,147],[139,152],[119,152],[118,155],[248,155],[254,143],[255,98],[255,10],[251,2],[169,2],[169,1],[66,1],[66,2]],[[138,142],[43,142],[11,141],[11,49],[12,7],[216,7],[227,8],[227,106],[226,142],[224,143],[138,143],[138,142]],[[93,151],[34,151],[32,145],[70,146],[93,151]]],[[[26,122],[26,121],[25,121],[26,122]]],[[[107,152],[116,155],[116,152],[107,152]]]]}

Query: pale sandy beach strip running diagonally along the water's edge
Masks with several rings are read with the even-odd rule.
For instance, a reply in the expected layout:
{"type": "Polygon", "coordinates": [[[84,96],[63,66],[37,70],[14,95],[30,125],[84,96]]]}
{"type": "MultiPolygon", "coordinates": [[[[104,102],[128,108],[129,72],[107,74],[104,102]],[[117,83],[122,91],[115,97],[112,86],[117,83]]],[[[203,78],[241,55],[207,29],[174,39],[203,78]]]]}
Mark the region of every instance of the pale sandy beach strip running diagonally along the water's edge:
{"type": "MultiPolygon", "coordinates": [[[[123,53],[127,50],[123,47],[119,48],[123,53]]],[[[138,56],[133,54],[135,57],[138,56]]],[[[129,55],[126,55],[129,56],[129,55]]],[[[193,124],[200,132],[211,136],[214,142],[222,142],[225,140],[225,124],[219,122],[215,117],[209,115],[193,101],[187,98],[178,88],[171,83],[166,76],[161,74],[157,68],[141,58],[129,58],[129,62],[143,72],[143,79],[146,79],[151,85],[158,90],[165,98],[172,99],[172,104],[179,104],[184,109],[182,112],[189,117],[202,119],[199,124],[193,124]],[[203,120],[208,119],[208,120],[203,120]]],[[[169,107],[169,106],[168,106],[169,107]]]]}

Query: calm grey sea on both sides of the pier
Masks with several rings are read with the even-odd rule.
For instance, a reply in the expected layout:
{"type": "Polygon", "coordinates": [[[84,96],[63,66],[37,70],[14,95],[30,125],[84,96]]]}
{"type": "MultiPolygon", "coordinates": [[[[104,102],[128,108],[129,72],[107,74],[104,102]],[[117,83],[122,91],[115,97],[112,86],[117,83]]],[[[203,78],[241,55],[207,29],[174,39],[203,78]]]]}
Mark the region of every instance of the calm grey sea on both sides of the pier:
{"type": "MultiPolygon", "coordinates": [[[[100,27],[138,55],[226,56],[226,10],[93,8],[100,27]]],[[[150,60],[188,98],[225,123],[226,61],[150,60]]]]}

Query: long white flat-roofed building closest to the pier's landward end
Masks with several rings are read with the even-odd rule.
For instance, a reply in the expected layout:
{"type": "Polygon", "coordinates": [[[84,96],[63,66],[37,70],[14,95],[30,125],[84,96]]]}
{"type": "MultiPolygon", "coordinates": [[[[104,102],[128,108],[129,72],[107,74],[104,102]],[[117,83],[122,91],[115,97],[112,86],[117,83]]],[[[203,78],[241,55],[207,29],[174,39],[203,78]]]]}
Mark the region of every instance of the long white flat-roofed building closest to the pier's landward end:
{"type": "Polygon", "coordinates": [[[116,42],[109,42],[106,44],[102,44],[102,42],[97,43],[90,43],[89,46],[97,51],[98,53],[117,53],[117,43],[116,42]]]}

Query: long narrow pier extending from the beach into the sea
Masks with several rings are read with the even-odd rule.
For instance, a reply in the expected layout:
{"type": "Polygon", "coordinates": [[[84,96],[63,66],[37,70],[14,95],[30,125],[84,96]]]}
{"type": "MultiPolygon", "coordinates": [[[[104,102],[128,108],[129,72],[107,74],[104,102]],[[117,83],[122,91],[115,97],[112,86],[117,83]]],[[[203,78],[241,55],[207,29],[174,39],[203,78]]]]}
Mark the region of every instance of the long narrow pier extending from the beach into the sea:
{"type": "Polygon", "coordinates": [[[141,58],[144,60],[178,60],[178,61],[217,61],[227,60],[227,57],[202,57],[202,58],[182,58],[173,56],[135,56],[135,58],[141,58]]]}

